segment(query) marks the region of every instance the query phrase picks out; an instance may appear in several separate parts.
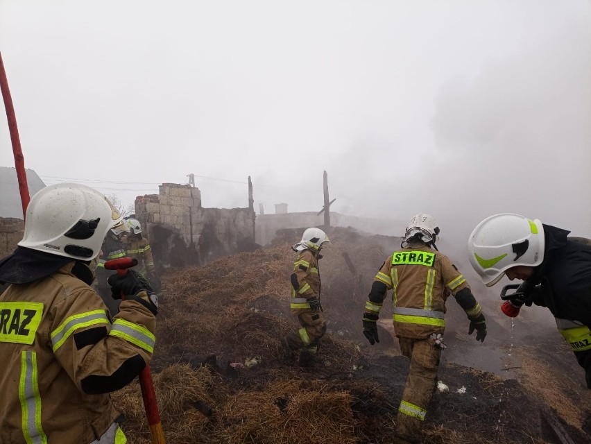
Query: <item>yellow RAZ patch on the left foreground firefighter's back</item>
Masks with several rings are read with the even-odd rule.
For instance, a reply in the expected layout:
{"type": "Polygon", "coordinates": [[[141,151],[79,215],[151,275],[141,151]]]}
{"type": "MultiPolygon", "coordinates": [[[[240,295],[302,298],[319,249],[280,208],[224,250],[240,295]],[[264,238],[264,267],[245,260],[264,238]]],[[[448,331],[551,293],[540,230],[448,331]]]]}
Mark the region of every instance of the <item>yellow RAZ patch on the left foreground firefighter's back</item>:
{"type": "Polygon", "coordinates": [[[0,302],[0,342],[31,345],[42,314],[43,302],[0,302]]]}

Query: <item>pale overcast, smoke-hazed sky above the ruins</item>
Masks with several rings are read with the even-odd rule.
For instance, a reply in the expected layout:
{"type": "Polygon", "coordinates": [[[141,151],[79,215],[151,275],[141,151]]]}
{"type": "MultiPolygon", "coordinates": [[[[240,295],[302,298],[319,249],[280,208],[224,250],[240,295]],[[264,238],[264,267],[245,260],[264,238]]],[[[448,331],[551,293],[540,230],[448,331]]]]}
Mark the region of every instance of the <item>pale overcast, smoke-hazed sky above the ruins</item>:
{"type": "MultiPolygon", "coordinates": [[[[123,203],[408,220],[517,212],[591,237],[591,2],[0,0],[25,166],[123,203]]],[[[0,166],[13,167],[6,118],[0,166]]],[[[402,233],[397,233],[402,234],[402,233]]]]}

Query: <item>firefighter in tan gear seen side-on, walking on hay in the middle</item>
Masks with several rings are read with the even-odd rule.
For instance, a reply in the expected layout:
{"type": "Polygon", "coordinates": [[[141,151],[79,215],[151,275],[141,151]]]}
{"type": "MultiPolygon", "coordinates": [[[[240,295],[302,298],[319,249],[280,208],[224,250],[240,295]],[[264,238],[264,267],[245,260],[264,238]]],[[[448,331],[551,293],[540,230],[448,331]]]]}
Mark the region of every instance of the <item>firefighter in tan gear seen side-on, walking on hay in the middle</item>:
{"type": "Polygon", "coordinates": [[[291,249],[298,253],[291,273],[291,314],[298,318],[300,329],[284,336],[281,340],[286,360],[293,352],[300,352],[299,364],[314,366],[318,342],[326,332],[323,307],[320,305],[320,271],[318,259],[320,250],[329,239],[320,228],[308,228],[302,240],[291,249]]]}

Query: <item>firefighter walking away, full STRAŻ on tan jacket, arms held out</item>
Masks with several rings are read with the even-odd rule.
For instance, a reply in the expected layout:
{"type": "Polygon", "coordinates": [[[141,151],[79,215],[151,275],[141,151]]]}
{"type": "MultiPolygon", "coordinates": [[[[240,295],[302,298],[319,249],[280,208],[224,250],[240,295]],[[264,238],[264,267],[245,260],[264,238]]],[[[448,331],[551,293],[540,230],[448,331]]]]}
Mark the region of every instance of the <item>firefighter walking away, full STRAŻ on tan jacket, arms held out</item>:
{"type": "Polygon", "coordinates": [[[420,442],[420,428],[436,386],[445,329],[445,302],[453,295],[470,320],[468,334],[486,337],[479,303],[456,266],[437,250],[439,228],[429,214],[416,214],[406,227],[400,250],[379,268],[363,313],[363,334],[379,342],[377,320],[386,291],[393,290],[393,323],[402,355],[411,360],[397,414],[397,434],[420,442]]]}

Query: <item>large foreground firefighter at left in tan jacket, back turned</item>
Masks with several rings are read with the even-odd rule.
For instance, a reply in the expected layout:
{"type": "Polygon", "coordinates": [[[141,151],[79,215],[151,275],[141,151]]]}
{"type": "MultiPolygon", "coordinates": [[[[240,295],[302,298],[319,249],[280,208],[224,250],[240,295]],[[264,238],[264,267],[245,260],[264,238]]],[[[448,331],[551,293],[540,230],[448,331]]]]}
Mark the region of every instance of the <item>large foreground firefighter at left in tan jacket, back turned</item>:
{"type": "Polygon", "coordinates": [[[37,192],[24,237],[1,259],[0,443],[127,442],[110,392],[151,360],[157,300],[141,275],[110,278],[119,314],[90,287],[121,216],[105,196],[62,183],[37,192]]]}

